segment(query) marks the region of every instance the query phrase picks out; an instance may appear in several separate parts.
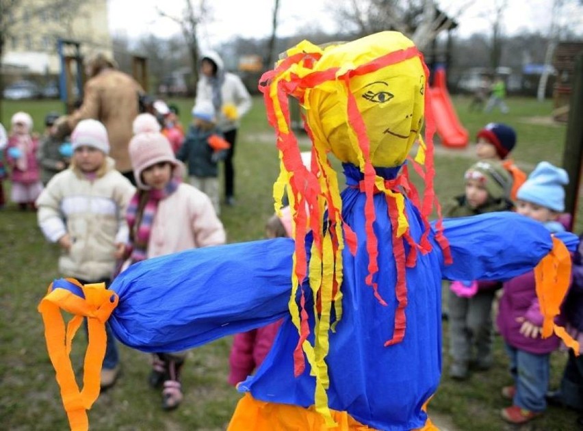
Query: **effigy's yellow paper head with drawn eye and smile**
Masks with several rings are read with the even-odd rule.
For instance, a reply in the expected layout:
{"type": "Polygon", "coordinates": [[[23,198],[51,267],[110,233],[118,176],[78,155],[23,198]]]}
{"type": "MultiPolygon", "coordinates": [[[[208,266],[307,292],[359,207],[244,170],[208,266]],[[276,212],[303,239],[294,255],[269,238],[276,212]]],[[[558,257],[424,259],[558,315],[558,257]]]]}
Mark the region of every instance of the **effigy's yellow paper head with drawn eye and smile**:
{"type": "MultiPolygon", "coordinates": [[[[354,42],[326,47],[315,72],[339,68],[337,76],[370,64],[389,53],[414,47],[396,31],[384,31],[354,42]]],[[[359,146],[347,114],[347,91],[357,101],[373,166],[398,166],[406,159],[422,127],[426,77],[419,57],[387,64],[364,75],[326,81],[306,91],[304,107],[315,144],[331,150],[340,161],[357,166],[359,146]]]]}

